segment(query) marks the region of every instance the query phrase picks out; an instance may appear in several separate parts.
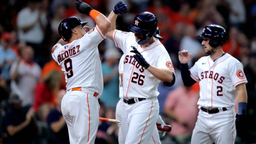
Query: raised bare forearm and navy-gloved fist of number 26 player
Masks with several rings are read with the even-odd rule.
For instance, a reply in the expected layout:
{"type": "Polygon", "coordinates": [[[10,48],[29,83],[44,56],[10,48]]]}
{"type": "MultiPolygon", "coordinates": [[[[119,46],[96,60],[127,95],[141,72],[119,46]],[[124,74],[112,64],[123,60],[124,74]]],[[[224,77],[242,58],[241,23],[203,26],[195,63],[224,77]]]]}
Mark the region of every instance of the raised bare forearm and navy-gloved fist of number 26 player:
{"type": "Polygon", "coordinates": [[[111,28],[109,29],[109,32],[107,33],[107,37],[112,40],[113,40],[113,32],[114,30],[116,29],[116,18],[118,16],[118,14],[124,14],[128,11],[128,8],[127,8],[127,5],[125,3],[123,3],[122,1],[118,2],[113,10],[110,12],[109,16],[108,16],[108,19],[109,21],[111,22],[111,28]]]}

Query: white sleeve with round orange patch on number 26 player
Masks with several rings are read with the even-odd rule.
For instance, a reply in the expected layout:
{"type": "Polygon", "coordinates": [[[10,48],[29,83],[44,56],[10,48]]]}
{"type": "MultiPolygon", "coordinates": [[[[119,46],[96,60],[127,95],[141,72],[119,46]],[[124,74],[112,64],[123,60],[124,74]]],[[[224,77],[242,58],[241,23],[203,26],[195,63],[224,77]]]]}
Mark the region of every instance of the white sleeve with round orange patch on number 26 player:
{"type": "Polygon", "coordinates": [[[156,67],[163,68],[163,69],[170,69],[175,73],[172,60],[168,53],[162,53],[158,56],[156,67]]]}

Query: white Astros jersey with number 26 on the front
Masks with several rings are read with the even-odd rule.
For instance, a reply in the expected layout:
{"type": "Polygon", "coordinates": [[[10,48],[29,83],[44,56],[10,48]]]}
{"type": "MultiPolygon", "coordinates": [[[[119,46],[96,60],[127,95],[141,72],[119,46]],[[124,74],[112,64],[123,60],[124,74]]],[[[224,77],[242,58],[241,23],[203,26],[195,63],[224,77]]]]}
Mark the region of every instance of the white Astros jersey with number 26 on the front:
{"type": "Polygon", "coordinates": [[[115,30],[113,39],[117,47],[124,53],[123,66],[123,97],[132,98],[153,98],[159,95],[157,90],[160,80],[154,77],[144,67],[140,66],[134,59],[132,46],[143,55],[147,62],[158,68],[170,69],[174,72],[173,64],[163,44],[157,39],[147,47],[141,48],[135,41],[133,32],[115,30]]]}

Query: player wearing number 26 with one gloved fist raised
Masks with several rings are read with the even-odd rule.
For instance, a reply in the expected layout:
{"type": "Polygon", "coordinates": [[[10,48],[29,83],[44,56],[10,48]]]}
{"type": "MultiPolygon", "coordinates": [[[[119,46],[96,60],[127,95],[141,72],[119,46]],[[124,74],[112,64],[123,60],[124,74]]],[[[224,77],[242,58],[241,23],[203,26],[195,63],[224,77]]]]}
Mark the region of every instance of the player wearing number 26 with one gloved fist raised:
{"type": "Polygon", "coordinates": [[[160,80],[172,86],[175,73],[169,54],[153,37],[157,30],[154,14],[138,14],[129,26],[134,33],[115,29],[117,15],[126,9],[121,1],[113,8],[108,17],[111,28],[107,34],[124,53],[122,136],[125,144],[148,144],[150,139],[154,140],[152,133],[159,116],[157,86],[160,80]]]}

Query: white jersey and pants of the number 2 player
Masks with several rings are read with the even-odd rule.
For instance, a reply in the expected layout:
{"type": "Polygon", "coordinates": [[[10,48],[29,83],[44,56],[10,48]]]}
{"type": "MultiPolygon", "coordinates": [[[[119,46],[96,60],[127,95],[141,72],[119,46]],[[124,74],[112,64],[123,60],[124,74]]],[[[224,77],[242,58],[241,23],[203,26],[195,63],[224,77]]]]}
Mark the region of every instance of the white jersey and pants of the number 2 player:
{"type": "Polygon", "coordinates": [[[190,76],[199,82],[198,108],[219,109],[215,114],[199,111],[191,144],[235,143],[235,87],[247,83],[243,65],[227,53],[215,61],[204,56],[191,67],[190,76]]]}

